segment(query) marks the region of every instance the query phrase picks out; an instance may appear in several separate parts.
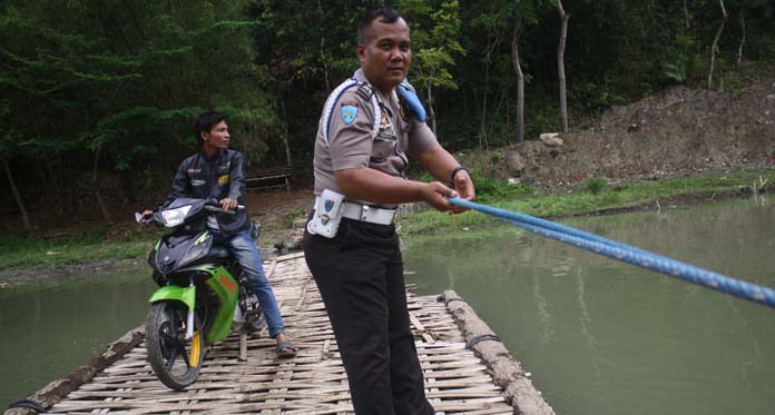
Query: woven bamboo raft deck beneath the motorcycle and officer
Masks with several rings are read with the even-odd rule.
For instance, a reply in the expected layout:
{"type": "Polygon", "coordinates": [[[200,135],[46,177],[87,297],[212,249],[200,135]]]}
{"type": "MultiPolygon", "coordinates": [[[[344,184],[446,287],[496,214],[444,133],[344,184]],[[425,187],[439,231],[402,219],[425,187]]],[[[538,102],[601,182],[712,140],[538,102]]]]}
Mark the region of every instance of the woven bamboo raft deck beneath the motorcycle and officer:
{"type": "MultiPolygon", "coordinates": [[[[278,358],[264,334],[247,339],[242,360],[233,334],[208,352],[195,384],[174,392],[154,376],[138,327],[28,402],[51,414],[352,413],[336,342],[303,254],[276,257],[265,268],[295,358],[278,358]]],[[[454,292],[415,296],[410,287],[408,300],[426,396],[438,414],[553,414],[529,373],[454,292]]]]}

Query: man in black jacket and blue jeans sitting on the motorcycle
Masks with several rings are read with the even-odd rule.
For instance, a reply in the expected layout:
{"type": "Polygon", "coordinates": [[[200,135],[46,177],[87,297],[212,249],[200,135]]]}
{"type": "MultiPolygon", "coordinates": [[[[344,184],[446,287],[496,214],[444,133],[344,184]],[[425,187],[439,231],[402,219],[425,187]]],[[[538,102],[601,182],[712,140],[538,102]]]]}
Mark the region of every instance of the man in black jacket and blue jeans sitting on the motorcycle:
{"type": "MultiPolygon", "coordinates": [[[[183,160],[173,180],[173,192],[165,206],[177,198],[215,198],[224,210],[233,210],[245,205],[245,180],[243,155],[228,148],[228,125],[224,115],[216,111],[200,113],[194,127],[202,139],[202,149],[183,160]]],[[[150,214],[146,210],[144,215],[150,214]]],[[[198,225],[209,229],[215,241],[226,246],[245,270],[253,292],[264,310],[269,336],[277,340],[277,354],[293,357],[296,349],[284,334],[283,317],[277,307],[269,281],[262,266],[261,254],[251,236],[251,221],[247,208],[232,214],[208,216],[206,223],[198,225]]]]}

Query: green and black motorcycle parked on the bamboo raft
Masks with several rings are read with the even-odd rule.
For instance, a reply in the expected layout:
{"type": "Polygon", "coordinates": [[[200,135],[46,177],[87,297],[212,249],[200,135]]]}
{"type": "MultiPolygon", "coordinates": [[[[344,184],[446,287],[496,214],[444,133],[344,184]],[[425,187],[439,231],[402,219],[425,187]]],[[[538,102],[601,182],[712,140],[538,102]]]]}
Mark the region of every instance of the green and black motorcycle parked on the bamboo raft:
{"type": "Polygon", "coordinates": [[[137,217],[173,228],[148,257],[160,288],[148,299],[146,349],[156,376],[176,391],[196,381],[206,346],[234,330],[256,333],[265,325],[239,264],[213,244],[208,230],[192,231],[192,224],[216,213],[228,211],[214,199],[180,198],[150,217],[137,217]]]}

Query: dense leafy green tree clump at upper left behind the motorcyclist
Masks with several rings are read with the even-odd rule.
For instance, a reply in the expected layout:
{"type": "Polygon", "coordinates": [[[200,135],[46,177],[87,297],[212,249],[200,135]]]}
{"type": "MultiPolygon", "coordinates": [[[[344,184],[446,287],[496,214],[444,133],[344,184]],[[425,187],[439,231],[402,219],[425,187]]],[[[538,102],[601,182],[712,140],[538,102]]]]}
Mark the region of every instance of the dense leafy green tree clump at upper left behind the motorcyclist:
{"type": "Polygon", "coordinates": [[[0,30],[14,36],[0,40],[0,90],[10,147],[38,142],[20,157],[61,160],[48,164],[50,176],[67,177],[61,182],[75,191],[89,189],[100,206],[101,174],[128,182],[130,200],[138,171],[148,165],[166,171],[190,152],[196,138],[188,126],[203,108],[225,111],[248,161],[261,159],[277,117],[263,90],[247,6],[6,2],[0,30]]]}

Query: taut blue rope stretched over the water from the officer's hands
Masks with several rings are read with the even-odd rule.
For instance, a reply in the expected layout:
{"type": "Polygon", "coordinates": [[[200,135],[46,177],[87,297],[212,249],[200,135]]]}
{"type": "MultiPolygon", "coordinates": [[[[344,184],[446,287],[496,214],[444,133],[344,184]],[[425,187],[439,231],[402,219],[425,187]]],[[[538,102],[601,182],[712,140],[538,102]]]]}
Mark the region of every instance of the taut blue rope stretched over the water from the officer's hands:
{"type": "Polygon", "coordinates": [[[530,215],[479,205],[457,197],[450,198],[450,202],[468,209],[481,211],[508,224],[519,226],[520,228],[565,244],[775,308],[775,290],[768,287],[730,278],[698,268],[691,264],[681,263],[630,245],[617,243],[598,235],[530,215]]]}

